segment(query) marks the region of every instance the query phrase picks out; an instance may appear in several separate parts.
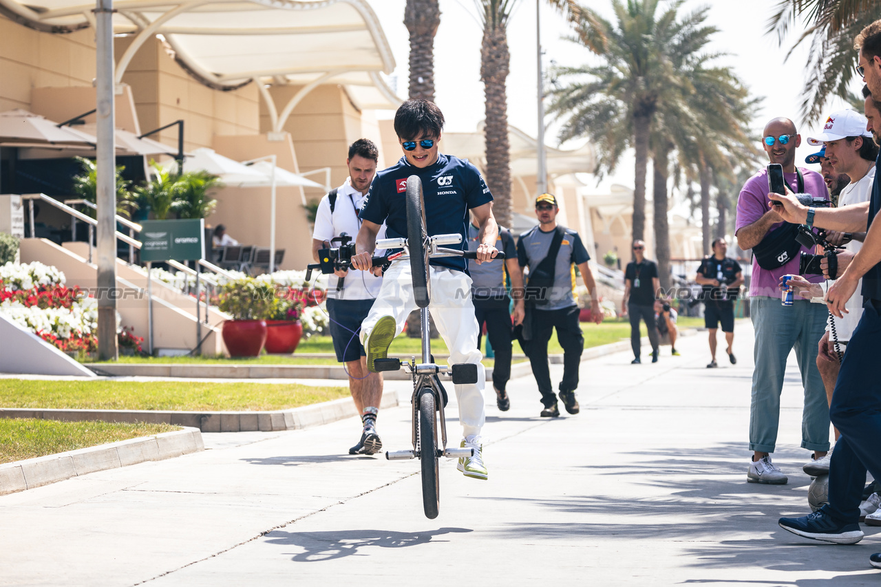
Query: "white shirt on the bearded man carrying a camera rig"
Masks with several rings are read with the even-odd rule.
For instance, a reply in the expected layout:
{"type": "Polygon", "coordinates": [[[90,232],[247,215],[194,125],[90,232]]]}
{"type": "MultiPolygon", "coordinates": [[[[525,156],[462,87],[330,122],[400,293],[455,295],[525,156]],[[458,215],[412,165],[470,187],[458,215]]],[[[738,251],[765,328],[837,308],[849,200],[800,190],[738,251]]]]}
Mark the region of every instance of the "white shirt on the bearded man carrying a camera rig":
{"type": "MultiPolygon", "coordinates": [[[[352,236],[352,241],[358,236],[361,221],[358,212],[364,204],[366,196],[357,189],[352,188],[352,183],[347,177],[343,185],[337,188],[337,202],[334,204],[333,215],[330,214],[330,199],[328,195],[322,197],[315,212],[315,230],[312,238],[318,241],[330,239],[346,233],[352,236]]],[[[385,225],[380,228],[377,240],[385,238],[385,225]]],[[[331,243],[332,247],[338,247],[339,242],[331,243]]],[[[377,250],[374,255],[382,254],[377,250]]],[[[376,277],[370,271],[358,271],[350,269],[343,282],[343,290],[337,293],[337,281],[335,275],[329,276],[328,297],[334,300],[372,300],[380,293],[382,278],[376,277]]]]}

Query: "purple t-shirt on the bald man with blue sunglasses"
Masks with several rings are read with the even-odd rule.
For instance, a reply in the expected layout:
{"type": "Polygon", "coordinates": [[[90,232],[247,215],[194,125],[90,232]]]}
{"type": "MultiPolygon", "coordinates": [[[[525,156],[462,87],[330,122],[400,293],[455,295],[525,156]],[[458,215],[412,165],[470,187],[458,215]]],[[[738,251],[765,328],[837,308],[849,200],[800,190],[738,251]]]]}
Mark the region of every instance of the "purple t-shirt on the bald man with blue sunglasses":
{"type": "MultiPolygon", "coordinates": [[[[829,192],[823,182],[823,176],[815,171],[799,167],[804,177],[804,193],[811,194],[815,197],[829,198],[829,192]]],[[[783,174],[789,189],[796,191],[797,175],[783,174]]],[[[771,199],[768,197],[768,172],[762,169],[758,174],[753,175],[746,183],[744,188],[740,190],[740,197],[737,198],[737,224],[734,233],[743,227],[748,227],[762,215],[768,211],[768,203],[771,199]]],[[[776,222],[768,232],[776,227],[782,226],[782,222],[776,222]]],[[[802,247],[805,253],[813,253],[811,249],[802,247]]],[[[768,297],[780,297],[780,278],[783,275],[798,275],[799,256],[796,256],[788,264],[778,267],[777,269],[762,269],[755,257],[752,258],[752,278],[750,280],[750,297],[754,295],[765,295],[768,297]]],[[[804,276],[811,283],[821,283],[822,275],[804,276]]]]}

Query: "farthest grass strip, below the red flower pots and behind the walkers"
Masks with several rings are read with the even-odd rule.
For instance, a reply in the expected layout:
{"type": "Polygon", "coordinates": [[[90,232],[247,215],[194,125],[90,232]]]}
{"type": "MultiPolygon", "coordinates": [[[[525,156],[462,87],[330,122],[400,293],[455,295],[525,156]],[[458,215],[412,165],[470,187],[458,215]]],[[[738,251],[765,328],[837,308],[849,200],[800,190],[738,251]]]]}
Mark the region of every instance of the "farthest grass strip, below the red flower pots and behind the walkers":
{"type": "MultiPolygon", "coordinates": [[[[680,328],[702,327],[704,325],[703,318],[680,316],[678,318],[680,328]]],[[[642,335],[646,335],[645,323],[641,325],[642,335]]],[[[630,338],[630,323],[622,319],[607,320],[602,324],[581,323],[581,331],[584,333],[584,347],[608,345],[618,342],[621,339],[630,338]]],[[[482,339],[481,351],[486,351],[486,338],[482,339]]],[[[421,353],[422,346],[418,338],[407,338],[399,336],[395,338],[389,348],[389,354],[393,356],[406,357],[409,355],[417,355],[421,353]]],[[[449,353],[447,345],[443,339],[432,339],[432,350],[435,353],[449,353]]],[[[200,365],[338,365],[337,360],[333,357],[310,359],[298,356],[300,353],[333,353],[333,341],[328,336],[315,336],[300,342],[297,346],[297,352],[293,355],[287,354],[266,354],[263,353],[259,357],[252,358],[235,358],[226,357],[120,357],[120,363],[197,363],[200,365]]],[[[548,353],[562,353],[563,349],[559,346],[556,336],[552,336],[551,342],[548,344],[548,353]]],[[[520,344],[515,341],[514,353],[522,353],[520,344]]],[[[516,361],[516,360],[515,360],[516,361]]],[[[492,359],[485,359],[484,365],[492,367],[492,359]]]]}

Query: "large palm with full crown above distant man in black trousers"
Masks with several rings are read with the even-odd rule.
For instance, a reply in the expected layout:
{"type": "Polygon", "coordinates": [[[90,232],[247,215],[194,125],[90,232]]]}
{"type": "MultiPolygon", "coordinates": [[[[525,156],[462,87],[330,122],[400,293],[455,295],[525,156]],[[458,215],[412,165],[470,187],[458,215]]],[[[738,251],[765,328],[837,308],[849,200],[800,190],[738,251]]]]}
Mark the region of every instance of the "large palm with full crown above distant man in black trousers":
{"type": "Polygon", "coordinates": [[[615,26],[582,8],[576,33],[604,63],[557,70],[558,77],[571,81],[552,91],[548,109],[559,117],[567,116],[561,141],[575,137],[594,141],[601,173],[613,171],[627,148],[635,151],[633,239],[645,234],[649,135],[655,116],[664,102],[681,100],[685,80],[673,65],[682,63],[686,55],[677,53],[696,50],[692,37],[705,38],[713,32],[700,27],[706,11],[677,20],[681,4],[681,0],[673,2],[657,14],[658,0],[628,0],[627,4],[612,0],[615,26]]]}

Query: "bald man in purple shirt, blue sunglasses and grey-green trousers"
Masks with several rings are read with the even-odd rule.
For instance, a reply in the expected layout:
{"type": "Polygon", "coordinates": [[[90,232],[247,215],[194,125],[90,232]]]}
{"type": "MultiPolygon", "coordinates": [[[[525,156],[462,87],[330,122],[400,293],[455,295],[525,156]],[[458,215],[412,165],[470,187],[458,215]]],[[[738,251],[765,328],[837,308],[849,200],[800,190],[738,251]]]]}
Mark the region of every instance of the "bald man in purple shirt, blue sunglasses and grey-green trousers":
{"type": "MultiPolygon", "coordinates": [[[[822,176],[806,168],[796,169],[796,147],[802,138],[788,118],[766,124],[762,146],[771,163],[781,165],[783,179],[795,191],[817,197],[826,195],[822,176]]],[[[781,276],[796,274],[799,251],[813,252],[795,240],[796,226],[785,224],[770,207],[768,172],[762,169],[741,189],[737,199],[735,235],[741,249],[753,249],[750,283],[750,317],[755,331],[750,408],[750,450],[753,457],[747,481],[783,485],[787,477],[771,462],[780,421],[783,375],[790,351],[795,348],[804,385],[802,448],[813,451],[814,460],[829,450],[829,406],[823,379],[817,370],[817,345],[825,331],[824,308],[807,300],[781,306],[778,282],[781,276]]],[[[811,282],[822,275],[808,276],[811,282]]]]}

